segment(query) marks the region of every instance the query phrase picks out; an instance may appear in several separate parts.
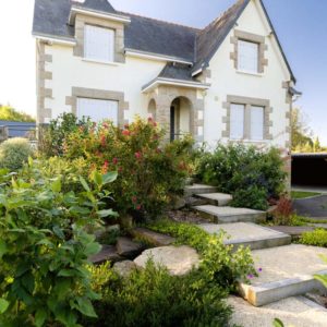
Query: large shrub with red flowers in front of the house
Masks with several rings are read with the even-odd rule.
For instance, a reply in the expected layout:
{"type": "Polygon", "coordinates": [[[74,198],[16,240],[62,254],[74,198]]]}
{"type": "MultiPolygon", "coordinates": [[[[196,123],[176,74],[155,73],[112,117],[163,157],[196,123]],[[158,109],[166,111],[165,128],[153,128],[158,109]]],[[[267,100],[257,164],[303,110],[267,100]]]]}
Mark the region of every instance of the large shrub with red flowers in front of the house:
{"type": "Polygon", "coordinates": [[[181,192],[192,172],[193,141],[185,137],[167,144],[165,131],[149,119],[136,119],[123,130],[110,122],[82,125],[70,133],[63,152],[68,159],[84,158],[89,172],[118,171],[110,184],[121,214],[136,218],[155,217],[181,192]]]}

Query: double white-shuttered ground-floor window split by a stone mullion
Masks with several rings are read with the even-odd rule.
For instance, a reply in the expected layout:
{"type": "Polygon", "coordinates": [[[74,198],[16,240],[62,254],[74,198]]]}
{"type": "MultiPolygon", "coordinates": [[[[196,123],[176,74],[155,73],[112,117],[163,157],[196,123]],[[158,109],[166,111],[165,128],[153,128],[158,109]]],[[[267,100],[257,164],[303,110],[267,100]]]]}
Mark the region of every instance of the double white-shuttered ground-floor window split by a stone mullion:
{"type": "Polygon", "coordinates": [[[231,104],[230,138],[263,141],[264,112],[264,107],[231,104]]]}

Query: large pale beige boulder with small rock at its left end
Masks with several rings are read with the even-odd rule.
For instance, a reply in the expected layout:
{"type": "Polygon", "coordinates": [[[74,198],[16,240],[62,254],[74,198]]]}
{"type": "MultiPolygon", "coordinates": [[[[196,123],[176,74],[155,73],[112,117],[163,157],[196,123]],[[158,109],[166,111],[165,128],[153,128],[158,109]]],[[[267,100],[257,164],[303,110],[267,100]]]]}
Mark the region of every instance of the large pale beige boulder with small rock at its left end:
{"type": "Polygon", "coordinates": [[[165,266],[172,276],[182,276],[197,268],[199,256],[190,246],[162,246],[146,250],[134,259],[140,268],[145,268],[148,259],[153,259],[157,266],[165,266]]]}

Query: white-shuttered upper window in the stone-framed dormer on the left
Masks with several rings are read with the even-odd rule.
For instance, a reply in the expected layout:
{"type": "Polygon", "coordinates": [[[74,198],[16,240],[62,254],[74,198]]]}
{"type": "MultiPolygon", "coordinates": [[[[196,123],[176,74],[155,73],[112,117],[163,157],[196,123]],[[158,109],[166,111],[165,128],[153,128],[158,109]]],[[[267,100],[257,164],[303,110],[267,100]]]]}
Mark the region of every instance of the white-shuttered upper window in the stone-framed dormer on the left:
{"type": "Polygon", "coordinates": [[[92,25],[84,27],[84,57],[111,62],[114,60],[114,31],[92,25]]]}

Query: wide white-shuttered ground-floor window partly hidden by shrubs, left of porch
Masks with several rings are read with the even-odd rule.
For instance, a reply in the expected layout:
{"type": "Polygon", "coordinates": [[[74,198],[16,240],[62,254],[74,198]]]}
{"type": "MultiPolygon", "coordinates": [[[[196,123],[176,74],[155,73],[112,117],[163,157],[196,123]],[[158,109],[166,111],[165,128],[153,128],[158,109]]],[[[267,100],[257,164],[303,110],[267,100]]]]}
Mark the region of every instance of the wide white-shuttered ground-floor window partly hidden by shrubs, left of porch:
{"type": "Polygon", "coordinates": [[[89,117],[94,122],[111,120],[118,124],[118,101],[77,98],[77,117],[89,117]]]}

